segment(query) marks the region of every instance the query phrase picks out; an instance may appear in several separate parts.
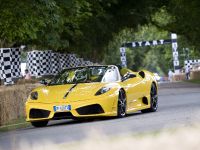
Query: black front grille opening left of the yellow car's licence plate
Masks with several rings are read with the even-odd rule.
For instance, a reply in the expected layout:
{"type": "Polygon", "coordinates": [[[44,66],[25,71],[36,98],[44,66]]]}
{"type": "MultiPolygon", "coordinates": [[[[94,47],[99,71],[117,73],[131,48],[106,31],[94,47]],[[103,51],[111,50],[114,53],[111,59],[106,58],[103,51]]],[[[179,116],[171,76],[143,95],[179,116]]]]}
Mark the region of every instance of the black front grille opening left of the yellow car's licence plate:
{"type": "Polygon", "coordinates": [[[50,111],[43,109],[31,109],[29,118],[48,118],[50,111]]]}

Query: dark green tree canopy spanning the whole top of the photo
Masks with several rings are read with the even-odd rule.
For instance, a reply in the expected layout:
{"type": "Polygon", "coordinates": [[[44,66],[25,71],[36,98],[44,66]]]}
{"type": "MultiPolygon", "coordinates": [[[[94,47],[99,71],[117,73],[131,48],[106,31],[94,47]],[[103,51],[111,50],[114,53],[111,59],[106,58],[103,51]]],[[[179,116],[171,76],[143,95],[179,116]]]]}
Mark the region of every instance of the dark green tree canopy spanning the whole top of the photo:
{"type": "Polygon", "coordinates": [[[152,25],[198,47],[199,8],[199,0],[0,0],[0,46],[74,52],[101,62],[125,29],[135,34],[152,25]]]}

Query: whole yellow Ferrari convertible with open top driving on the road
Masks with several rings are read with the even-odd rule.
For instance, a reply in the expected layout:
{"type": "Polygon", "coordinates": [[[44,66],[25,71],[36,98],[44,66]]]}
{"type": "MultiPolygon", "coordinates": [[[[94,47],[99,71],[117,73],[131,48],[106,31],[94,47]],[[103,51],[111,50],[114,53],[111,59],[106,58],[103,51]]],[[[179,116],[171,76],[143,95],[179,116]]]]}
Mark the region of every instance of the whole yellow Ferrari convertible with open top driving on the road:
{"type": "Polygon", "coordinates": [[[114,65],[65,69],[34,89],[26,102],[26,120],[35,127],[55,119],[124,117],[155,112],[158,88],[153,73],[114,65]]]}

